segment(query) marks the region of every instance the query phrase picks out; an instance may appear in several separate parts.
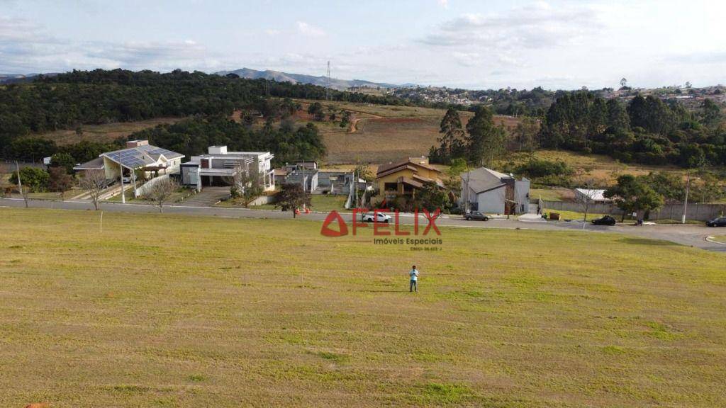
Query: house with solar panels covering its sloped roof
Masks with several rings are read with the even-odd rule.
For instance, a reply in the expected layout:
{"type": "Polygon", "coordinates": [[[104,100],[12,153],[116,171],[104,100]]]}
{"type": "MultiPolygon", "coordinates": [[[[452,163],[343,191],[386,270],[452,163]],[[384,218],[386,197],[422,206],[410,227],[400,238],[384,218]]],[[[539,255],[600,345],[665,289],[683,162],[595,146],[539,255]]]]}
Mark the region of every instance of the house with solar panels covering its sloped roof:
{"type": "Polygon", "coordinates": [[[146,179],[161,174],[173,174],[179,171],[184,155],[161,147],[152,146],[148,140],[130,140],[126,148],[105,152],[98,158],[73,167],[76,171],[102,170],[106,179],[117,180],[123,170],[123,176],[131,176],[133,172],[144,172],[146,179]]]}

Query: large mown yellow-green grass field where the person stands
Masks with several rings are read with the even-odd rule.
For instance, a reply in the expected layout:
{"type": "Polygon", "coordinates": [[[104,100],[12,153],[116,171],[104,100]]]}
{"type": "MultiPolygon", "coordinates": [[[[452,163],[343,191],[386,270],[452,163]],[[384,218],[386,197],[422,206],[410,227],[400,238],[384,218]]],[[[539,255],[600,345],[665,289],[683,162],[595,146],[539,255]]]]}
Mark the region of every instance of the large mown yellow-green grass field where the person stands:
{"type": "Polygon", "coordinates": [[[0,209],[0,406],[726,404],[719,253],[470,228],[414,251],[158,214],[101,233],[99,215],[0,209]]]}

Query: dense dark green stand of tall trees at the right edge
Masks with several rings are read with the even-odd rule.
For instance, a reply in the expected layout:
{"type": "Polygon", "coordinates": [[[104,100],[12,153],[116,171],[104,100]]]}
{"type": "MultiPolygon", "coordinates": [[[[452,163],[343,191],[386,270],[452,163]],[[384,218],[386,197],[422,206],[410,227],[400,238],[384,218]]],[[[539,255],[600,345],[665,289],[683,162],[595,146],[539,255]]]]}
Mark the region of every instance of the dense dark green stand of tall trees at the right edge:
{"type": "Polygon", "coordinates": [[[724,115],[711,99],[690,111],[653,96],[637,95],[624,105],[587,91],[563,94],[542,119],[539,144],[626,163],[726,165],[724,115]]]}

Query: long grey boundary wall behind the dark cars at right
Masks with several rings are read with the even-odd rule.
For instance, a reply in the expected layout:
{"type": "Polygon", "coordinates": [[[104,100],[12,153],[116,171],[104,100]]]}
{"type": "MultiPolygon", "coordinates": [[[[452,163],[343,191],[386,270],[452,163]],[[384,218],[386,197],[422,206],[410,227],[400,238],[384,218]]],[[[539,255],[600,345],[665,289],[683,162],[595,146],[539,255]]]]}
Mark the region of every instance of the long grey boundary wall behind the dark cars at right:
{"type": "MultiPolygon", "coordinates": [[[[550,211],[575,211],[583,212],[582,204],[571,201],[547,201],[542,200],[543,208],[550,211]]],[[[592,203],[587,208],[587,213],[591,214],[611,214],[621,215],[623,211],[611,203],[592,203]]],[[[686,219],[696,221],[706,221],[714,219],[726,213],[726,204],[700,204],[688,203],[688,209],[685,214],[686,219]]],[[[650,220],[659,219],[681,219],[683,216],[683,204],[666,204],[658,211],[650,211],[650,220]]]]}

